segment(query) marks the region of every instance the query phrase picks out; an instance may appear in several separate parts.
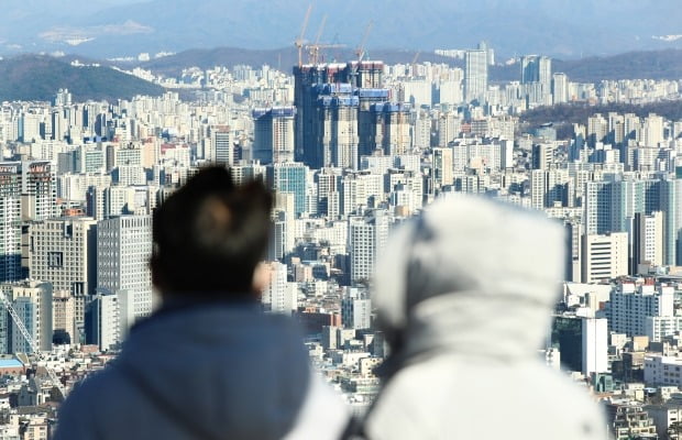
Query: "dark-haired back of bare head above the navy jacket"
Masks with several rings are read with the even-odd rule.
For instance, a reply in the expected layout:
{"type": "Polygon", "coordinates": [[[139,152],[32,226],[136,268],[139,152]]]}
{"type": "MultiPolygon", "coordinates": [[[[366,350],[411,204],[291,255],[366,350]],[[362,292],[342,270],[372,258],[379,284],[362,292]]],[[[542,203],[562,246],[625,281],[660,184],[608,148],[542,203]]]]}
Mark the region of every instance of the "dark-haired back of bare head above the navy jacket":
{"type": "Polygon", "coordinates": [[[272,194],[223,167],[193,176],[154,212],[154,284],[164,295],[243,295],[264,257],[272,194]]]}

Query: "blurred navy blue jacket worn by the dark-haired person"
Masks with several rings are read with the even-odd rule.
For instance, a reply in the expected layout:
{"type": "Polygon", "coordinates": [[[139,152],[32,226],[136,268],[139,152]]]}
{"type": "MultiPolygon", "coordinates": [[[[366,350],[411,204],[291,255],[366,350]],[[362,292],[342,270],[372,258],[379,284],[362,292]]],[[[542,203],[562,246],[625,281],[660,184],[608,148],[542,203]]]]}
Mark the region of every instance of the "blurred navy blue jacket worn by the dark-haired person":
{"type": "Polygon", "coordinates": [[[75,388],[55,440],[336,439],[348,416],[290,318],[258,305],[164,310],[75,388]]]}

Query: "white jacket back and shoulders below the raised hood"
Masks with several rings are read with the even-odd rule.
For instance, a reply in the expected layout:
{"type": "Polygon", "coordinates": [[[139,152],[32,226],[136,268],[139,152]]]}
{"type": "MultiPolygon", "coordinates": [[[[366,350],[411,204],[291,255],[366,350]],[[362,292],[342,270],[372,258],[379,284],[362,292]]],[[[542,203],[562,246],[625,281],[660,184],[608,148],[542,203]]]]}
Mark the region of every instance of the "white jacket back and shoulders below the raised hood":
{"type": "Polygon", "coordinates": [[[493,433],[503,426],[507,431],[528,430],[518,426],[522,414],[536,415],[536,433],[604,438],[605,418],[587,389],[544,365],[512,369],[446,361],[410,365],[392,377],[365,419],[369,438],[449,438],[452,432],[470,438],[475,427],[465,421],[487,420],[491,411],[497,414],[499,425],[488,428],[488,438],[495,438],[493,433]],[[496,391],[494,398],[490,389],[496,391]],[[452,424],[452,430],[444,431],[444,424],[452,424]]]}

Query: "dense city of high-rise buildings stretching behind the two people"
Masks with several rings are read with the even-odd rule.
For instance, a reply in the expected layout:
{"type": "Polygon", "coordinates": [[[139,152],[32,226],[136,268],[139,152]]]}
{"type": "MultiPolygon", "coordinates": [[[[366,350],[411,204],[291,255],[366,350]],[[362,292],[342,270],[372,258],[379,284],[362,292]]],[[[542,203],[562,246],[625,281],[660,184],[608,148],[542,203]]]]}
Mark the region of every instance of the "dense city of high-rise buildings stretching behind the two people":
{"type": "MultiPolygon", "coordinates": [[[[44,403],[116,359],[153,316],[154,212],[218,164],[235,184],[273,190],[262,309],[298,321],[310,362],[351,411],[376,398],[374,367],[388,354],[373,302],[377,257],[396,228],[468,195],[565,232],[564,278],[542,289],[553,310],[537,362],[601,402],[618,439],[664,432],[682,402],[680,375],[669,374],[682,364],[682,116],[618,106],[682,102],[682,78],[590,82],[528,53],[510,63],[513,79],[492,80],[498,54],[477,41],[441,54],[459,64],[385,63],[360,46],[282,69],[131,68],[121,74],[162,94],[80,100],[59,87],[51,101],[0,103],[8,410],[35,407],[26,424],[50,430],[55,405],[44,403]],[[524,121],[556,106],[591,111],[575,123],[524,121]]],[[[84,64],[72,67],[96,67],[84,64]]],[[[479,240],[492,246],[493,232],[479,240]]],[[[516,249],[493,258],[499,267],[534,233],[516,232],[516,249]]],[[[535,292],[531,279],[514,283],[535,292]]]]}

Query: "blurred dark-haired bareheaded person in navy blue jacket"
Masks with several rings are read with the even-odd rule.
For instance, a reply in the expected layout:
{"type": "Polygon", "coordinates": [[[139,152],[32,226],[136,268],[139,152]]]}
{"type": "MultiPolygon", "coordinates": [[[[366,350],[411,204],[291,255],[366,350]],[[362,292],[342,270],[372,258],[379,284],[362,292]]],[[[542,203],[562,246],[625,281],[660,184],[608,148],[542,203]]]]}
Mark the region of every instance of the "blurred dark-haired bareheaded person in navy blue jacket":
{"type": "Polygon", "coordinates": [[[201,169],[154,212],[162,306],[74,388],[55,440],[336,439],[348,410],[290,317],[262,311],[272,195],[201,169]]]}

